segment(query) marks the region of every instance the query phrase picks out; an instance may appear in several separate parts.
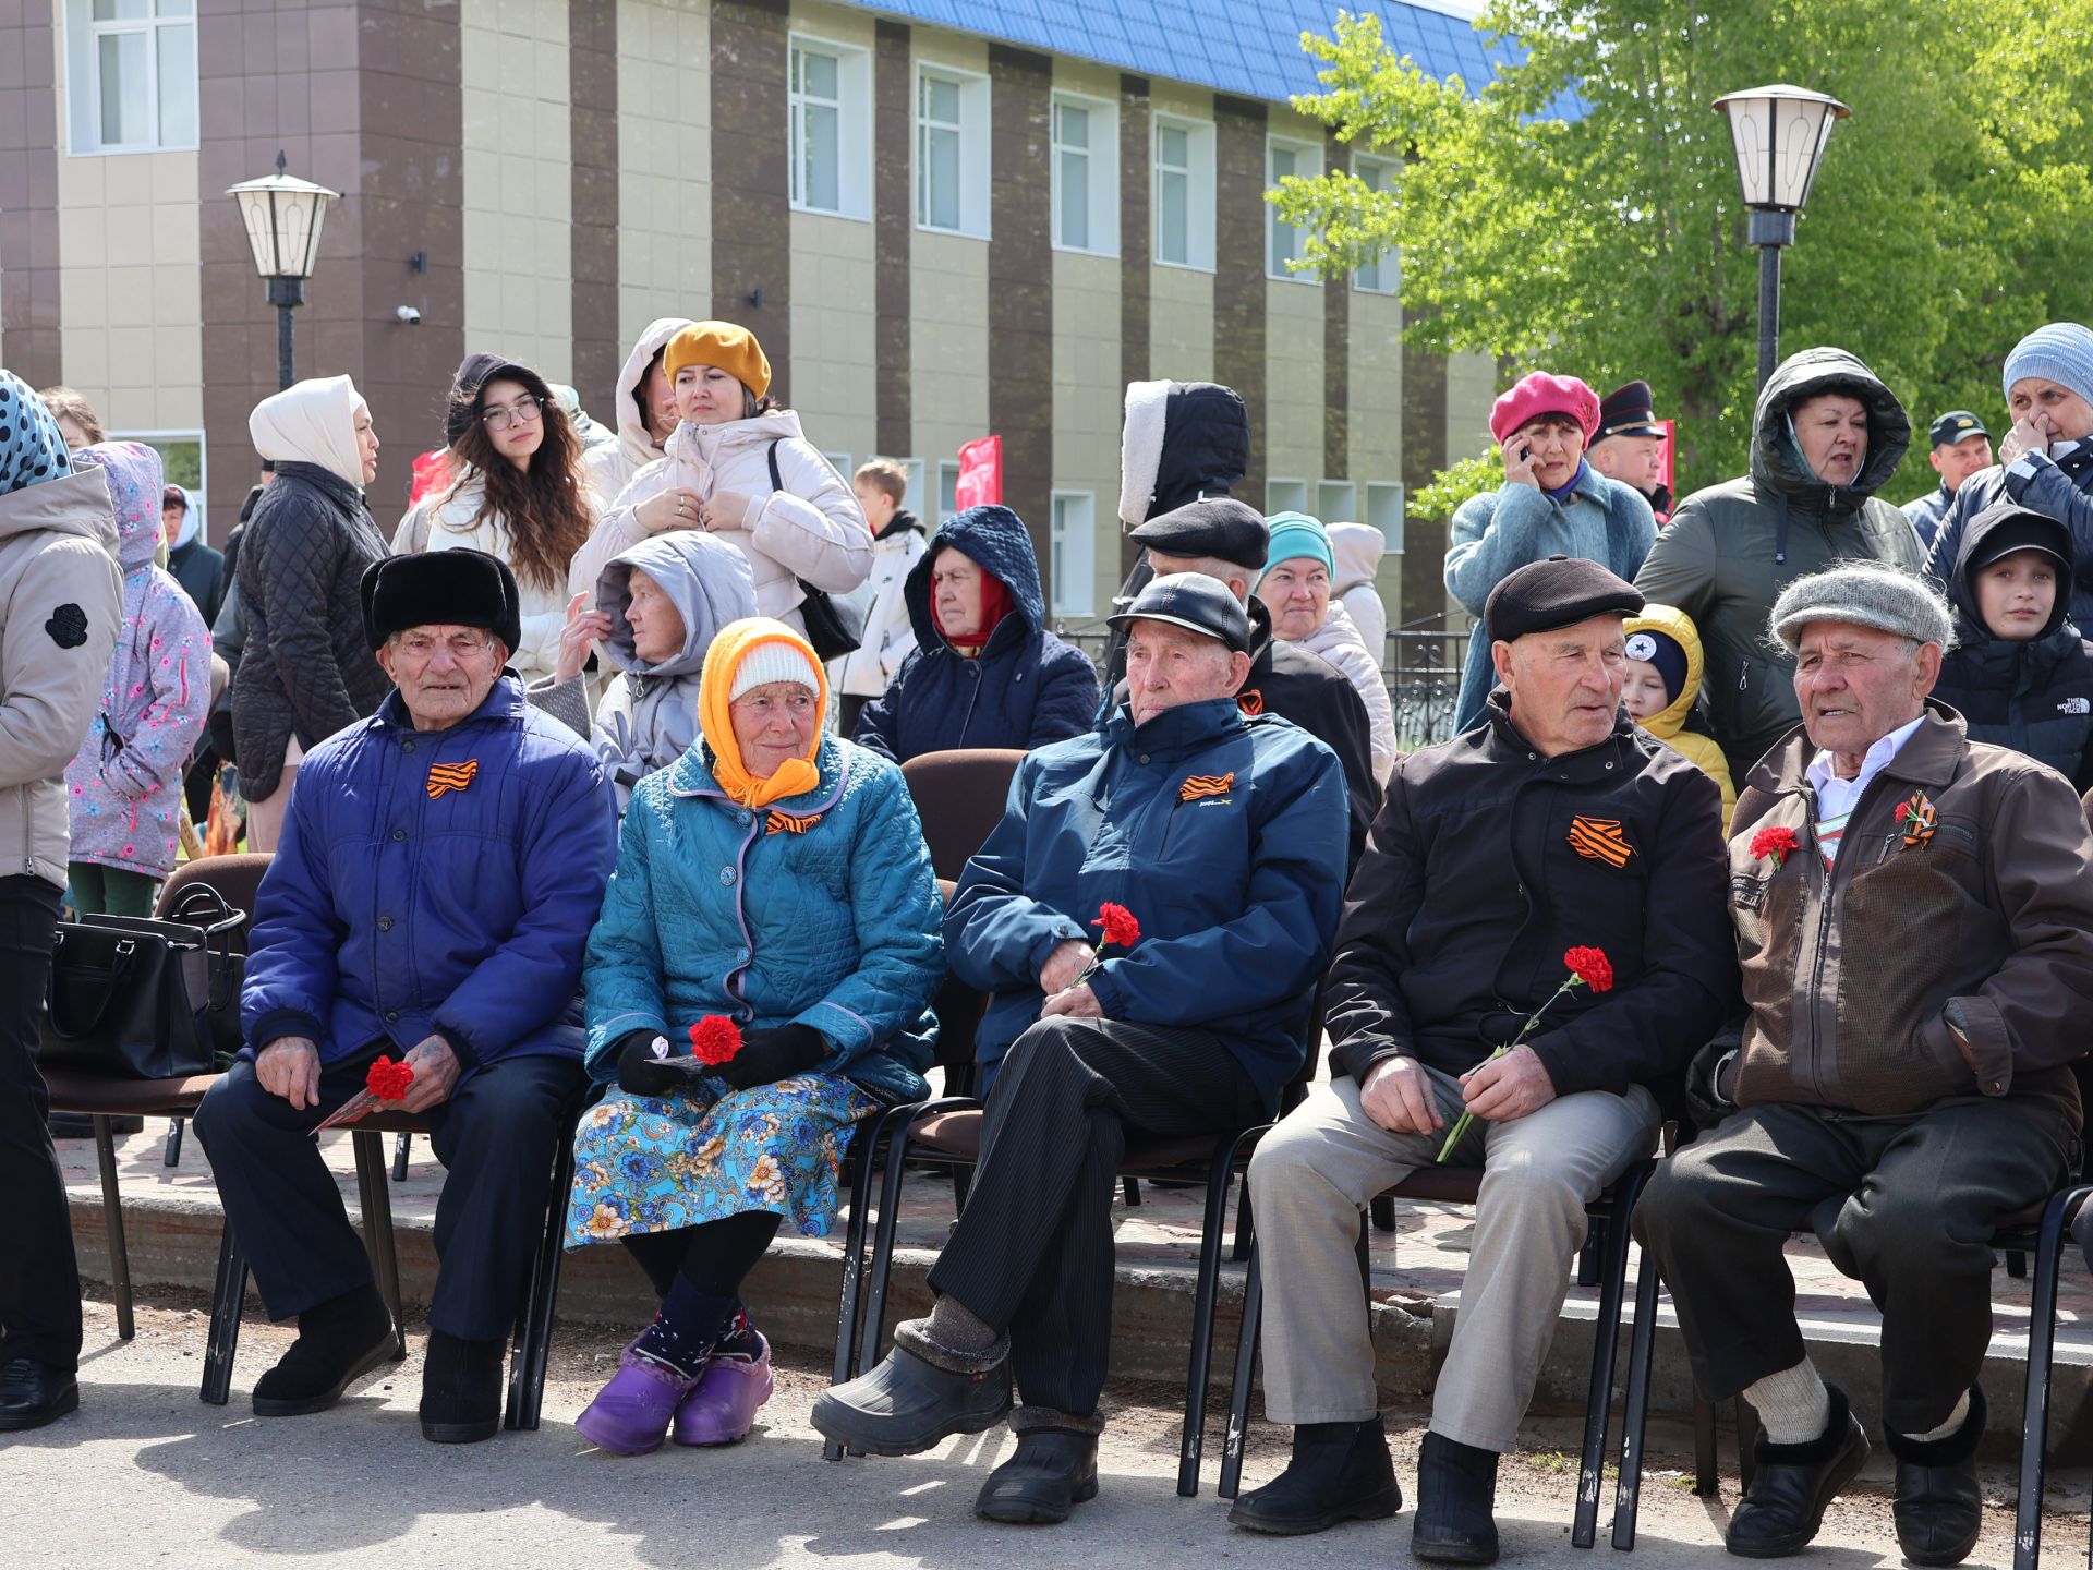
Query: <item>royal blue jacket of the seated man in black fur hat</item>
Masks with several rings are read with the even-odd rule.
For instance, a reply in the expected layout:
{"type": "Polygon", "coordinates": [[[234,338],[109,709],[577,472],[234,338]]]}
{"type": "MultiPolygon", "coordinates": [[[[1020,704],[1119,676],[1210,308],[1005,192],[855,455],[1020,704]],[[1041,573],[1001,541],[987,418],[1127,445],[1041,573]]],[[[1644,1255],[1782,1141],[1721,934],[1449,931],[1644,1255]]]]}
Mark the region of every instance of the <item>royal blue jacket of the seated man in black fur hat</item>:
{"type": "Polygon", "coordinates": [[[306,754],[255,894],[247,1051],[444,1036],[471,1070],[582,1057],[582,946],[617,854],[594,754],[502,676],[448,731],[400,695],[306,754]],[[431,772],[442,766],[442,772],[431,772]]]}

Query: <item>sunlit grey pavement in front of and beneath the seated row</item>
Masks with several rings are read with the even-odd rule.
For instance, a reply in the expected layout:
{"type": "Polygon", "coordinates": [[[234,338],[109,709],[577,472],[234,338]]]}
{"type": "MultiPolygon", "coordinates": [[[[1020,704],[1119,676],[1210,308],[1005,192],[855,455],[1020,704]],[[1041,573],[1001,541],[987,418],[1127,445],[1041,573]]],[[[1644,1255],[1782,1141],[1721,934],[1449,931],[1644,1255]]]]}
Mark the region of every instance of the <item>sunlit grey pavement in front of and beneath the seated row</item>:
{"type": "MultiPolygon", "coordinates": [[[[197,1403],[201,1306],[140,1308],[138,1340],[115,1340],[107,1304],[90,1304],[86,1405],[52,1428],[0,1444],[0,1541],[8,1562],[38,1570],[96,1566],[237,1566],[253,1562],[375,1566],[931,1566],[971,1570],[1019,1555],[1055,1564],[1097,1557],[1143,1570],[1220,1564],[1381,1570],[1406,1564],[1409,1511],[1316,1539],[1252,1539],[1229,1528],[1212,1495],[1178,1499],[1176,1411],[1168,1392],[1113,1390],[1101,1497],[1063,1528],[998,1528],[971,1501],[1009,1438],[952,1440],[908,1461],[820,1459],[806,1426],[820,1380],[785,1371],[756,1436],[728,1451],[617,1459],[588,1449],[573,1415],[605,1377],[615,1342],[569,1338],[546,1388],[544,1428],[488,1444],[433,1446],[419,1438],[419,1336],[406,1365],[358,1386],[333,1413],[255,1419],[245,1394],[287,1333],[251,1325],[241,1342],[234,1405],[197,1403]]],[[[1396,1413],[1404,1482],[1415,1467],[1417,1413],[1396,1413]]],[[[1674,1449],[1664,1434],[1658,1446],[1674,1449]]],[[[1568,1432],[1536,1432],[1507,1461],[1499,1488],[1505,1564],[1605,1566],[1612,1549],[1570,1547],[1574,1465],[1568,1432]]],[[[1252,1434],[1247,1480],[1277,1472],[1285,1440],[1252,1434]]],[[[1660,1459],[1664,1459],[1660,1455],[1660,1459]]],[[[1819,1547],[1800,1564],[1865,1570],[1900,1557],[1888,1530],[1884,1470],[1836,1505],[1819,1547]]],[[[2011,1482],[1988,1480],[1986,1537],[1972,1564],[2009,1562],[2011,1482]]],[[[1612,1495],[1607,1495],[1612,1499],[1612,1495]]],[[[2049,1526],[2045,1562],[2083,1557],[2083,1488],[2055,1503],[2076,1518],[2049,1526]]],[[[1641,1566],[1725,1566],[1729,1499],[1691,1497],[1676,1474],[1651,1474],[1643,1495],[1641,1566]]]]}

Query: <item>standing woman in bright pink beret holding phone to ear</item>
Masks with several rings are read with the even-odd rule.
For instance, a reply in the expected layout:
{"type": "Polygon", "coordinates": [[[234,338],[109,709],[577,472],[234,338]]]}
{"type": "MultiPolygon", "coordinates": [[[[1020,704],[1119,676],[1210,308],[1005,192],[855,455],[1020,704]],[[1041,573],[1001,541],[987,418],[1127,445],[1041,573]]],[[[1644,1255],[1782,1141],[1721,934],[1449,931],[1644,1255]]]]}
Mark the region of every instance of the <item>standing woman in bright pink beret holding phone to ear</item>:
{"type": "Polygon", "coordinates": [[[1658,538],[1658,521],[1641,492],[1584,463],[1584,444],[1597,429],[1599,394],[1576,377],[1534,371],[1490,406],[1505,484],[1461,502],[1446,544],[1446,592],[1476,618],[1457,731],[1482,718],[1490,695],[1482,603],[1505,574],[1528,561],[1584,557],[1633,582],[1658,538]]]}

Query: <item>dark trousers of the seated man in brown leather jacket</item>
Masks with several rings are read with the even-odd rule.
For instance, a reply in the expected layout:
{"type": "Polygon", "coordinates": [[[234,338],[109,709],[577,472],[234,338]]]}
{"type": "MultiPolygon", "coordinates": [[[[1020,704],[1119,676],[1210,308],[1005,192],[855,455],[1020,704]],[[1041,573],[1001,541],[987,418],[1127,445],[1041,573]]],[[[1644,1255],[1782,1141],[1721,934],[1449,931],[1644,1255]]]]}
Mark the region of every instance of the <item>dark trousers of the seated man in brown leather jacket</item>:
{"type": "Polygon", "coordinates": [[[1635,1235],[1672,1289],[1693,1377],[1725,1400],[1806,1356],[1781,1248],[1815,1231],[1882,1310],[1884,1423],[1926,1434],[1984,1367],[1997,1223],[2055,1193],[2076,1147],[2034,1099],[1917,1118],[1748,1107],[1658,1162],[1635,1235]]]}

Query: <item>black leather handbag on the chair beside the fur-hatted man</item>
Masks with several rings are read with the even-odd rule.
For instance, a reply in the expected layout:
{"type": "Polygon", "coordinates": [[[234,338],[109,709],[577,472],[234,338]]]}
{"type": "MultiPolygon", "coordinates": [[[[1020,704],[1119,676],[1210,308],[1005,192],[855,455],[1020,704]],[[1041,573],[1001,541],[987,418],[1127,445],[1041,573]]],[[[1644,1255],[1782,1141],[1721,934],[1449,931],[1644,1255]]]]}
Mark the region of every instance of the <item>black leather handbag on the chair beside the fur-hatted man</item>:
{"type": "Polygon", "coordinates": [[[61,921],[38,1063],[115,1080],[213,1072],[241,1047],[245,925],[209,883],[184,888],[165,919],[61,921]]]}

